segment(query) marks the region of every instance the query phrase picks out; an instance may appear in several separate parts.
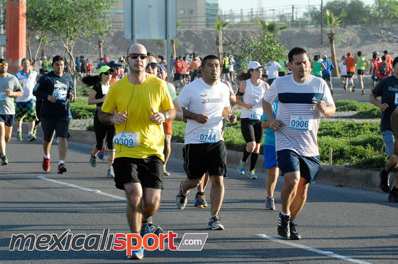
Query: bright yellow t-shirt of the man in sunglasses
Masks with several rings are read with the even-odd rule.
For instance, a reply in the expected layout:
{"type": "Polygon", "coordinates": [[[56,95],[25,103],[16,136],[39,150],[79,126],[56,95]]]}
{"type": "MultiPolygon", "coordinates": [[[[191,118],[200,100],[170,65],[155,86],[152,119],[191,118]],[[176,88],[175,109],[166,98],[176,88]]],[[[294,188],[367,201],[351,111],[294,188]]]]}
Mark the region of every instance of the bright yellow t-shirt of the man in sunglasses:
{"type": "Polygon", "coordinates": [[[110,85],[106,95],[102,111],[113,114],[127,111],[127,121],[121,125],[115,125],[116,135],[124,132],[139,133],[139,146],[128,147],[115,144],[115,157],[148,158],[158,156],[164,160],[164,132],[163,125],[156,125],[150,121],[153,112],[162,112],[162,109],[174,108],[172,98],[167,91],[166,82],[146,74],[147,79],[143,84],[134,85],[128,81],[128,77],[110,85]]]}

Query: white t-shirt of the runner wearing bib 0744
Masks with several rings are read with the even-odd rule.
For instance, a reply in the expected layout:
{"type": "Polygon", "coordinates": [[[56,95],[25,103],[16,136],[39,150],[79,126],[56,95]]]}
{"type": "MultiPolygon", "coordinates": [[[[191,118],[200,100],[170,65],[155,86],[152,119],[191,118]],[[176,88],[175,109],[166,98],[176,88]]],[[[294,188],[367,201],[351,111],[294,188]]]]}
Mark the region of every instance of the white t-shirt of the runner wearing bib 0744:
{"type": "MultiPolygon", "coordinates": [[[[217,133],[221,133],[222,111],[230,106],[229,87],[226,84],[217,82],[215,86],[210,86],[199,78],[184,86],[178,95],[178,101],[180,106],[187,108],[189,112],[209,117],[207,123],[198,123],[194,119],[187,120],[185,145],[204,143],[203,139],[201,141],[201,136],[205,130],[217,130],[217,133]]],[[[220,140],[224,139],[221,137],[220,140]]]]}

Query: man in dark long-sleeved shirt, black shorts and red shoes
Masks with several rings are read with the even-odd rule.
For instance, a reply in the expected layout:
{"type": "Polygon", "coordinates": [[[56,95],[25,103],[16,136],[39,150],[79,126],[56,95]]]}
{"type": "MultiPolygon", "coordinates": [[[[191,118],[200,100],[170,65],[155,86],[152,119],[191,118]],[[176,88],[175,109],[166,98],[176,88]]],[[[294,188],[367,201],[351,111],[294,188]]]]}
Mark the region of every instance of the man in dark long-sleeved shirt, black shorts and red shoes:
{"type": "Polygon", "coordinates": [[[58,173],[67,171],[65,158],[67,156],[69,137],[69,100],[73,100],[73,80],[71,75],[64,73],[65,60],[61,56],[53,59],[53,71],[43,75],[34,87],[33,94],[38,99],[43,99],[40,109],[40,121],[43,128],[43,170],[49,171],[50,148],[53,141],[54,130],[58,137],[60,162],[58,173]]]}

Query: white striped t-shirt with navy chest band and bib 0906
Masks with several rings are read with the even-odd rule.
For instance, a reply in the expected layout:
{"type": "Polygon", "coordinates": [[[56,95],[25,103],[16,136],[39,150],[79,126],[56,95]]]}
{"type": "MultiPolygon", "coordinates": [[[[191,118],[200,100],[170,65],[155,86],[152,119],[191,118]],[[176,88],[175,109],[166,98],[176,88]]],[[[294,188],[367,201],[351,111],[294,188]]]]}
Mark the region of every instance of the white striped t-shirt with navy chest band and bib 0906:
{"type": "Polygon", "coordinates": [[[279,77],[264,94],[270,105],[279,100],[277,119],[285,123],[275,132],[277,151],[291,149],[301,156],[318,156],[319,110],[312,101],[334,105],[326,82],[308,75],[307,82],[294,81],[293,75],[279,77]],[[306,123],[307,122],[307,123],[306,123]]]}

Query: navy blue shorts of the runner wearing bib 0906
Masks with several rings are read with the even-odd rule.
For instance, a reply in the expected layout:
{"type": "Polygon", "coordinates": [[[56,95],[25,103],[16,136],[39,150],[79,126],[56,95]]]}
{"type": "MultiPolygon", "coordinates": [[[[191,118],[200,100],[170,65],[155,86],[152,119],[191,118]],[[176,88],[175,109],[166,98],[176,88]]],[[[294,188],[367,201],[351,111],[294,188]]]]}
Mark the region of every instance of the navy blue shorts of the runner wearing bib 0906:
{"type": "Polygon", "coordinates": [[[319,156],[303,157],[291,149],[283,149],[277,152],[277,160],[281,175],[300,171],[300,177],[310,183],[315,182],[320,171],[319,156]]]}

